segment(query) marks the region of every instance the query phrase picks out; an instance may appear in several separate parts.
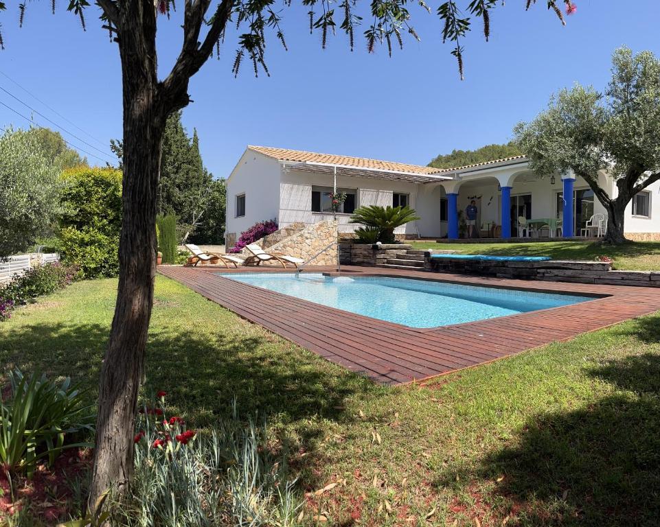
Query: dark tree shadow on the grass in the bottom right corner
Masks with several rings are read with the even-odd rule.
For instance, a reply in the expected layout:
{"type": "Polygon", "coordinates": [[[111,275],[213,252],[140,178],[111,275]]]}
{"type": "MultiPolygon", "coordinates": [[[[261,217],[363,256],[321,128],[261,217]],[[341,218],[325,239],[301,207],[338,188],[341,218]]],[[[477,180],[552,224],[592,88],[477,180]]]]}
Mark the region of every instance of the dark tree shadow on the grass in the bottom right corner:
{"type": "Polygon", "coordinates": [[[492,482],[489,501],[502,516],[513,511],[512,524],[657,526],[660,356],[608,362],[590,374],[634,393],[540,414],[476,468],[450,467],[437,484],[492,482]]]}

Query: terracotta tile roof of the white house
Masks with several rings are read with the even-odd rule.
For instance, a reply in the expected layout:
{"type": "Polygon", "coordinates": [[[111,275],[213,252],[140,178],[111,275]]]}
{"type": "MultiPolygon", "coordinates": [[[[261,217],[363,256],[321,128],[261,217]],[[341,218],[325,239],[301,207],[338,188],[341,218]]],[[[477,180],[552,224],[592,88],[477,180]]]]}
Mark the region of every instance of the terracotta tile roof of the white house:
{"type": "Polygon", "coordinates": [[[422,165],[410,165],[409,163],[396,163],[393,161],[380,161],[378,159],[367,159],[364,157],[337,156],[334,154],[317,154],[316,152],[305,152],[304,150],[289,150],[288,148],[271,148],[268,146],[252,146],[247,148],[260,152],[264,156],[269,156],[278,161],[293,161],[302,163],[328,163],[332,165],[344,165],[348,167],[359,167],[365,169],[391,170],[394,172],[411,172],[413,174],[442,174],[444,172],[455,172],[457,170],[477,168],[495,163],[505,163],[516,159],[525,159],[525,156],[512,156],[503,159],[494,159],[493,161],[484,161],[464,167],[456,168],[435,168],[424,167],[422,165]]]}

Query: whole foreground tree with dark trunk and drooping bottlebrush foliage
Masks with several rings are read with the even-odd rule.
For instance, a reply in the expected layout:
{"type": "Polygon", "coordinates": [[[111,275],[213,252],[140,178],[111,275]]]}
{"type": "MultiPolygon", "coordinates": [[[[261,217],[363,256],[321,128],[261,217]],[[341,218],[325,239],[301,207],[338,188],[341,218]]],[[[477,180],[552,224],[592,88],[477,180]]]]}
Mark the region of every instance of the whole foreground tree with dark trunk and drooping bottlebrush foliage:
{"type": "MultiPolygon", "coordinates": [[[[28,4],[20,1],[22,24],[28,4]]],[[[384,45],[391,54],[394,45],[402,47],[405,35],[417,38],[409,12],[411,3],[431,12],[424,0],[301,0],[301,8],[309,15],[309,30],[320,34],[322,47],[339,25],[353,49],[354,32],[366,19],[367,50],[384,45]]],[[[527,8],[533,3],[535,0],[527,0],[527,8]]],[[[565,4],[567,12],[573,10],[569,0],[544,3],[562,23],[559,5],[565,4]]],[[[89,5],[88,0],[71,0],[67,8],[80,17],[83,27],[89,5]]],[[[183,13],[175,13],[172,0],[95,0],[122,63],[124,176],[120,278],[100,379],[91,503],[111,484],[122,491],[133,472],[132,430],[153,303],[157,188],[168,116],[190,104],[190,78],[214,51],[220,56],[220,49],[236,49],[231,63],[235,74],[245,61],[255,74],[267,74],[266,41],[279,40],[286,48],[280,21],[284,8],[293,5],[291,0],[184,0],[183,13]],[[157,27],[170,15],[181,23],[181,49],[172,69],[159,78],[157,27]]],[[[489,12],[497,5],[497,0],[448,0],[437,6],[442,39],[453,44],[451,53],[457,58],[461,75],[462,40],[470,30],[470,18],[483,21],[483,33],[488,38],[489,12]]],[[[0,0],[0,10],[5,8],[0,0]]],[[[218,101],[228,104],[222,95],[218,101]]]]}

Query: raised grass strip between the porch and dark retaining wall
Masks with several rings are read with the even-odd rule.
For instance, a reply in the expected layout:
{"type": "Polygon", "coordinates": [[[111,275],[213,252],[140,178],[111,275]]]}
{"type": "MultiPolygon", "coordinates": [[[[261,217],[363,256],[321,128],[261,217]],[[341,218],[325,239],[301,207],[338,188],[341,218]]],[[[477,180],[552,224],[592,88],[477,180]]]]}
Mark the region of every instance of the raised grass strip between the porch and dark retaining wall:
{"type": "Polygon", "coordinates": [[[522,244],[446,244],[407,242],[416,249],[455,249],[470,255],[549,256],[554,259],[593,260],[598,256],[614,259],[614,268],[631,271],[660,270],[660,242],[630,242],[604,245],[602,242],[530,242],[522,244]]]}

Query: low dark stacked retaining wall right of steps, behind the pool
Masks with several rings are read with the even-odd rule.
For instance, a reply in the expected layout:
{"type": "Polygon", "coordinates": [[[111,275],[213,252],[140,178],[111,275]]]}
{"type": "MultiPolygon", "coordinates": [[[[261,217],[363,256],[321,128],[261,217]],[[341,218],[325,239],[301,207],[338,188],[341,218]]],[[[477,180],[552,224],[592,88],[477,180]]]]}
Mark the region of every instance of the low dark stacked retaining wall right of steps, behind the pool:
{"type": "Polygon", "coordinates": [[[424,268],[436,272],[460,272],[499,278],[554,282],[637,285],[660,288],[658,271],[615,271],[602,261],[488,261],[431,258],[424,254],[424,268]]]}

